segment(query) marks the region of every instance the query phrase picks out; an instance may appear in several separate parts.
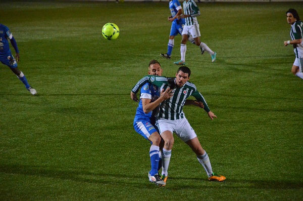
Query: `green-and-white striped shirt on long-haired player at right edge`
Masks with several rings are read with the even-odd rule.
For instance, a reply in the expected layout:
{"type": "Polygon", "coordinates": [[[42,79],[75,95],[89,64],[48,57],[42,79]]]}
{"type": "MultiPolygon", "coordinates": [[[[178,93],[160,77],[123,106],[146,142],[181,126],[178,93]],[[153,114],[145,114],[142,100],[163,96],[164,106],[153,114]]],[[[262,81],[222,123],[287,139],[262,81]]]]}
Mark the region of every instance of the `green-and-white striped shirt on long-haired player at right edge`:
{"type": "MultiPolygon", "coordinates": [[[[303,22],[302,21],[295,21],[292,25],[291,25],[291,29],[290,29],[290,37],[291,40],[294,39],[303,39],[303,22]]],[[[294,48],[294,54],[296,58],[303,57],[303,42],[301,44],[296,44],[293,45],[294,48]]]]}

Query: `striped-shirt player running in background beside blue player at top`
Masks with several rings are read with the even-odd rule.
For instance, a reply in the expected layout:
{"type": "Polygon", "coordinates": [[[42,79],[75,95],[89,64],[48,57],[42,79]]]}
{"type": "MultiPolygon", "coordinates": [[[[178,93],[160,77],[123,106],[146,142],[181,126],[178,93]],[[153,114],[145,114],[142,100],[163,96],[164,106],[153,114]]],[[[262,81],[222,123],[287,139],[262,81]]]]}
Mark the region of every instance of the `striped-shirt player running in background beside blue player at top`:
{"type": "Polygon", "coordinates": [[[197,21],[197,16],[200,15],[199,8],[194,0],[185,0],[183,2],[183,15],[177,16],[178,19],[185,18],[185,25],[182,31],[182,41],[181,41],[181,60],[174,62],[177,65],[185,65],[185,54],[186,54],[186,42],[188,41],[189,35],[194,39],[194,42],[200,48],[210,53],[212,57],[212,62],[216,61],[217,53],[212,51],[205,43],[200,41],[200,30],[197,21]]]}

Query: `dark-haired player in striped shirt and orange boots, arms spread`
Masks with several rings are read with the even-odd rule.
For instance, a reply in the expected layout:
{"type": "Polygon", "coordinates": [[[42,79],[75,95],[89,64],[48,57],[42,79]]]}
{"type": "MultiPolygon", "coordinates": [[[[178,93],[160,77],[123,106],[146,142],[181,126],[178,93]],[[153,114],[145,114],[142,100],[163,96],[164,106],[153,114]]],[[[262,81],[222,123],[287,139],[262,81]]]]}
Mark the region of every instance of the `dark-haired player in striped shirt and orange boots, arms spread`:
{"type": "Polygon", "coordinates": [[[192,95],[197,101],[203,102],[204,109],[212,120],[217,118],[210,110],[204,97],[197,91],[195,85],[188,82],[190,73],[188,67],[182,66],[178,69],[176,77],[145,76],[133,87],[132,92],[137,93],[145,83],[158,86],[160,90],[167,89],[168,87],[173,90],[173,96],[160,104],[159,112],[156,114],[156,117],[158,117],[156,126],[165,142],[162,155],[162,175],[165,181],[168,175],[171,150],[174,144],[173,132],[195,152],[198,162],[206,170],[209,180],[224,181],[226,179],[224,176],[213,173],[209,156],[202,148],[197,135],[191,128],[182,110],[186,99],[192,95]]]}

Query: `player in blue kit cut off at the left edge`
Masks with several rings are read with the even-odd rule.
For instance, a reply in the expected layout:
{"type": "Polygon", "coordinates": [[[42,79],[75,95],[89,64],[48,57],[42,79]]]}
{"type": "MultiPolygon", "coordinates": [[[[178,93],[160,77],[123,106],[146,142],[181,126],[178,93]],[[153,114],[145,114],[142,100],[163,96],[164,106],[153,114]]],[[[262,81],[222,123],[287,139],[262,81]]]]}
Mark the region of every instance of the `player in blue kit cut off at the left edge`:
{"type": "Polygon", "coordinates": [[[0,24],[0,61],[4,65],[7,65],[11,68],[11,70],[17,75],[17,77],[20,79],[20,81],[25,85],[26,89],[32,94],[35,95],[37,94],[36,90],[33,89],[27,82],[27,79],[25,75],[23,74],[22,71],[18,69],[17,62],[19,61],[19,50],[18,46],[16,43],[16,40],[11,33],[10,29],[3,25],[0,24]],[[11,42],[13,48],[15,49],[16,52],[16,59],[13,57],[11,49],[10,49],[10,44],[9,41],[11,42]]]}

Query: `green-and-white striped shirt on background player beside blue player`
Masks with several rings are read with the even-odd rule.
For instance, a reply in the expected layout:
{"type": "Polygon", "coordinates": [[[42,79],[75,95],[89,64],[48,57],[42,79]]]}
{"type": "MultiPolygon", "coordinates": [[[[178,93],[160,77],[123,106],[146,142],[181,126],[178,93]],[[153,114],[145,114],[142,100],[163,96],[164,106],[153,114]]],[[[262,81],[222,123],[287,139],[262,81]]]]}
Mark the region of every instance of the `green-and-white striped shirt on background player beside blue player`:
{"type": "Polygon", "coordinates": [[[197,16],[200,15],[199,8],[194,0],[188,0],[183,2],[184,15],[190,15],[185,18],[185,26],[198,24],[197,16]]]}

